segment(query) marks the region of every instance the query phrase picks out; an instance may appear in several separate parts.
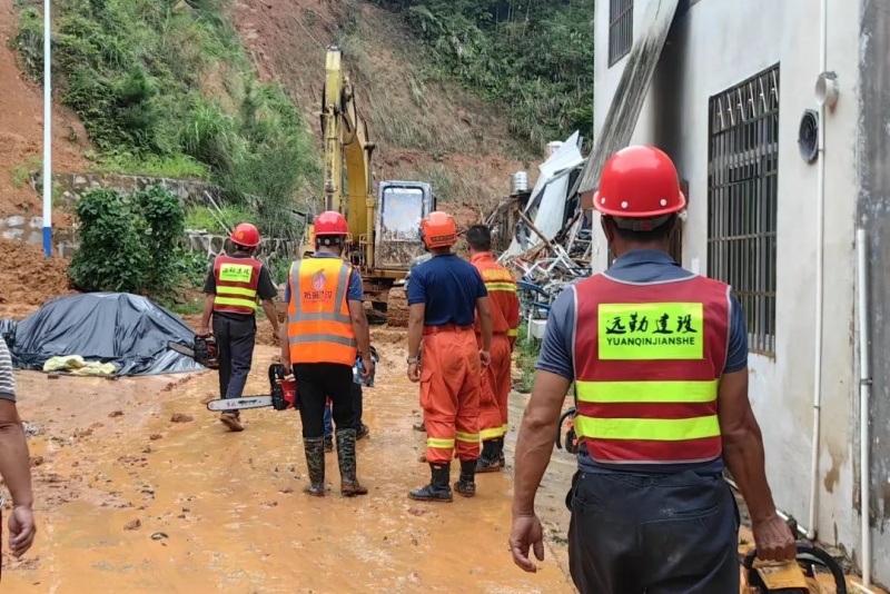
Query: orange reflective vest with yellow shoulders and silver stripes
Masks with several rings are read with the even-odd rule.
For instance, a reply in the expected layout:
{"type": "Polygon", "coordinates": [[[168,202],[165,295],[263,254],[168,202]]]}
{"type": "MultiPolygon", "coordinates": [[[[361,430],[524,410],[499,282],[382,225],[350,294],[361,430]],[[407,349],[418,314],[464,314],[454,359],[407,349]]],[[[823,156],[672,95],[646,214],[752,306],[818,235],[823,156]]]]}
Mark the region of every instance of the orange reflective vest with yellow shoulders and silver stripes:
{"type": "Polygon", "coordinates": [[[290,266],[287,337],[290,363],[352,367],[358,344],[347,300],[353,267],[339,258],[306,258],[290,266]]]}

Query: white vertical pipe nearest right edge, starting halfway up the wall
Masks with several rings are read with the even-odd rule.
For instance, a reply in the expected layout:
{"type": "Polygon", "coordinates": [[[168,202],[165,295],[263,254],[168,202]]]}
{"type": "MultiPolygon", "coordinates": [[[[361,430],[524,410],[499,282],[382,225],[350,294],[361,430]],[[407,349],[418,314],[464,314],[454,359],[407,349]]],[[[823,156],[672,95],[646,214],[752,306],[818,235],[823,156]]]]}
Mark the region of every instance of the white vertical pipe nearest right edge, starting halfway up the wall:
{"type": "Polygon", "coordinates": [[[871,491],[869,402],[871,399],[871,350],[869,348],[868,268],[866,230],[856,230],[857,313],[859,318],[859,507],[862,521],[862,585],[871,584],[871,526],[869,492],[871,491]]]}

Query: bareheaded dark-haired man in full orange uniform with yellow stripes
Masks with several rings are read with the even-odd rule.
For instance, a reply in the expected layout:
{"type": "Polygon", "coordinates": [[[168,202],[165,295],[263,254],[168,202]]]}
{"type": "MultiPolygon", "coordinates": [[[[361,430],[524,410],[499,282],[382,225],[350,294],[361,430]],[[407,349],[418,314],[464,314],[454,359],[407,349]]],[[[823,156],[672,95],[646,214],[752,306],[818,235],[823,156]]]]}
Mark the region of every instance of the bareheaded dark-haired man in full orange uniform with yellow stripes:
{"type": "MultiPolygon", "coordinates": [[[[520,327],[520,298],[516,279],[492,256],[492,231],[485,225],[466,230],[469,264],[479,271],[492,308],[492,364],[482,375],[479,436],[482,454],[477,473],[497,472],[504,466],[504,436],[507,433],[507,397],[512,388],[513,345],[520,327]]],[[[476,338],[482,346],[482,328],[476,323],[476,338]]]]}

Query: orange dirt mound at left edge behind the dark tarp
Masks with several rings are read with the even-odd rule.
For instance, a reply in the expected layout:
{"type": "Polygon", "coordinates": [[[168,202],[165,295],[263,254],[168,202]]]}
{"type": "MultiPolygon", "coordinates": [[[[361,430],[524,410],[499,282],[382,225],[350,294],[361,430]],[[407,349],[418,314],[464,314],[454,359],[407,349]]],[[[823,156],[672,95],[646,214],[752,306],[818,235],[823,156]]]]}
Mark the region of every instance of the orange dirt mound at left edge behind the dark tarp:
{"type": "Polygon", "coordinates": [[[38,246],[0,239],[0,306],[32,310],[53,297],[77,293],[68,279],[69,264],[47,258],[38,246]]]}

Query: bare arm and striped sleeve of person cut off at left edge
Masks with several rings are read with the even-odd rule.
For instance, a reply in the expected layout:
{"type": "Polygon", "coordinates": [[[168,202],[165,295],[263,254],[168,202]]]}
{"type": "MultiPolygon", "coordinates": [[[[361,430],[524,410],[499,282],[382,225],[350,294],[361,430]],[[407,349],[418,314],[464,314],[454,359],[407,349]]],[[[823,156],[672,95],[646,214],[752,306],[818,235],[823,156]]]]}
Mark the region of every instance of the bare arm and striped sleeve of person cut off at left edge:
{"type": "MultiPolygon", "coordinates": [[[[37,534],[31,491],[31,458],[24,427],[16,407],[16,376],[7,341],[0,338],[0,478],[12,496],[9,516],[9,548],[21,557],[31,548],[37,534]]],[[[0,511],[3,509],[0,497],[0,511]]],[[[2,514],[0,514],[2,515],[2,514]]]]}

